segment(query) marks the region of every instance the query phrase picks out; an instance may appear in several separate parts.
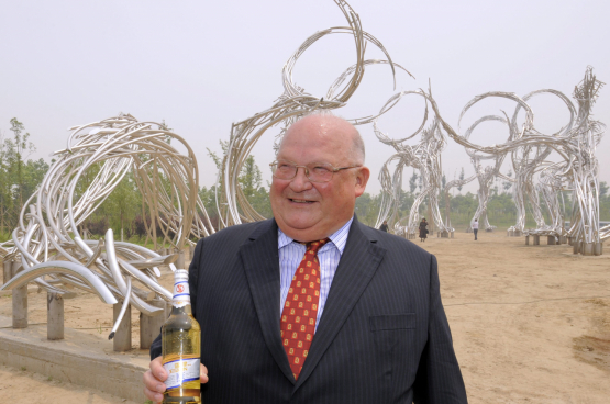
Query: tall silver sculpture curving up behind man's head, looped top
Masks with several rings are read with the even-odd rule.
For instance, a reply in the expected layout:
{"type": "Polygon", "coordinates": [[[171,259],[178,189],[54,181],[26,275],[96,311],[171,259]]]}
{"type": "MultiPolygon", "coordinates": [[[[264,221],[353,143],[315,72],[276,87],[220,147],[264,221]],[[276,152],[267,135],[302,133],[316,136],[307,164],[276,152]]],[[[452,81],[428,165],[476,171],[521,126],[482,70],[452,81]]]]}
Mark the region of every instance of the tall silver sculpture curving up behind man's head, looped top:
{"type": "MultiPolygon", "coordinates": [[[[362,29],[358,14],[356,14],[347,2],[343,0],[334,0],[334,2],[343,12],[348,26],[336,26],[319,31],[307,38],[284,66],[284,93],[278,98],[276,103],[265,111],[233,124],[231,127],[229,148],[223,157],[222,167],[219,171],[215,187],[220,227],[264,218],[252,207],[243,194],[239,186],[237,178],[242,166],[252,152],[254,145],[267,130],[275,125],[281,125],[282,128],[278,135],[279,139],[284,135],[286,128],[298,117],[314,110],[334,110],[344,106],[358,88],[367,66],[388,65],[391,68],[392,75],[396,74],[397,68],[404,70],[401,66],[392,63],[389,54],[384,48],[381,43],[377,41],[377,38],[362,29]],[[299,57],[313,43],[331,34],[347,34],[354,38],[356,64],[348,67],[345,72],[331,85],[326,97],[317,98],[295,83],[292,79],[292,70],[299,57]],[[373,44],[381,49],[387,59],[365,59],[365,49],[367,44],[373,44]]],[[[359,125],[369,123],[377,116],[378,115],[365,116],[350,121],[359,125]]]]}

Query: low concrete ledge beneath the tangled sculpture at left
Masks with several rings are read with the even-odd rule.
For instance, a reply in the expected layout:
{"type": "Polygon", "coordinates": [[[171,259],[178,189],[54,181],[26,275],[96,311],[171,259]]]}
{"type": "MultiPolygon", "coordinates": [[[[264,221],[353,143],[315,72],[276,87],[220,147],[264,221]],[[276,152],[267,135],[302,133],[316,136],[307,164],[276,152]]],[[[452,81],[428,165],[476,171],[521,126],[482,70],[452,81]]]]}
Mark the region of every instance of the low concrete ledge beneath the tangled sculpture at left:
{"type": "MultiPolygon", "coordinates": [[[[0,316],[0,327],[11,318],[0,316]]],[[[101,390],[143,403],[142,374],[148,369],[148,351],[112,352],[112,343],[66,328],[66,339],[46,339],[45,325],[23,329],[0,328],[0,363],[51,377],[54,380],[101,390]]]]}

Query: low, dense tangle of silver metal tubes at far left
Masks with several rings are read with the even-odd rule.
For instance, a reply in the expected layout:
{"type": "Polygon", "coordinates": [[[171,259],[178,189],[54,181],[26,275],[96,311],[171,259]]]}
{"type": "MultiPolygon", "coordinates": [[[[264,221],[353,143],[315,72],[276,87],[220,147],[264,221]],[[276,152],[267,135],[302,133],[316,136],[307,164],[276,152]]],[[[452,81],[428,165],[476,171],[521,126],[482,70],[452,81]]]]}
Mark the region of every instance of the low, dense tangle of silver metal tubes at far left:
{"type": "Polygon", "coordinates": [[[19,257],[22,270],[1,289],[33,281],[64,298],[74,296],[70,289],[78,288],[98,294],[106,303],[123,301],[113,333],[130,303],[146,315],[163,312],[146,300],[151,292],[171,300],[171,293],[157,281],[157,267],[175,269],[177,258],[115,242],[111,228],[102,239],[87,239],[85,221],[121,180],[131,172],[142,195],[146,240],[151,238],[155,249],[157,237],[163,245],[179,249],[192,243],[189,236],[206,236],[213,227],[197,193],[197,159],[180,136],[129,114],[71,131],[66,149],[54,154],[56,161],[25,203],[11,245],[2,247],[5,259],[19,257]],[[187,155],[171,142],[186,148],[187,155]],[[84,175],[91,172],[95,179],[82,187],[84,175]]]}

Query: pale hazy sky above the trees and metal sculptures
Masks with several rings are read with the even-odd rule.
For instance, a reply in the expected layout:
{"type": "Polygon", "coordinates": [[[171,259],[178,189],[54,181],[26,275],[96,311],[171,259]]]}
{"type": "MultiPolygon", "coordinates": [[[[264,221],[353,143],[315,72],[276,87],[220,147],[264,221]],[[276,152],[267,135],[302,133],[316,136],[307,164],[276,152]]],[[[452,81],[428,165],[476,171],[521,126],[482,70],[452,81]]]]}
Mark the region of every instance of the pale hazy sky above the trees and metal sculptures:
{"type": "MultiPolygon", "coordinates": [[[[397,91],[428,89],[446,122],[457,130],[463,106],[488,91],[519,96],[542,89],[572,97],[588,65],[610,80],[608,1],[388,1],[352,0],[365,31],[404,66],[392,88],[388,66],[367,69],[344,117],[377,113],[397,91]]],[[[317,31],[343,26],[332,0],[259,1],[4,1],[0,7],[0,131],[24,123],[43,157],[65,147],[68,127],[131,113],[141,121],[165,120],[198,156],[201,184],[211,186],[215,167],[206,148],[220,152],[231,123],[269,106],[282,93],[281,68],[317,31]]],[[[367,58],[380,58],[373,46],[367,58]]],[[[353,38],[332,35],[299,60],[295,81],[317,97],[355,61],[353,38]]],[[[532,100],[535,124],[554,132],[568,117],[556,99],[532,100]]],[[[462,131],[480,116],[512,113],[510,102],[487,102],[465,117],[462,131]]],[[[595,117],[610,123],[610,87],[603,88],[595,117]]],[[[391,137],[419,126],[423,101],[406,99],[379,120],[391,137]]],[[[377,193],[377,176],[392,149],[371,125],[359,126],[377,193]]],[[[253,154],[268,179],[276,131],[253,154]]],[[[601,180],[610,182],[610,139],[597,149],[601,180]]],[[[502,143],[504,127],[493,124],[472,141],[502,143]]],[[[412,142],[411,144],[414,144],[412,142]]],[[[507,160],[508,162],[508,160],[507,160]]],[[[451,139],[443,152],[448,179],[464,167],[464,149],[451,139]]],[[[502,169],[509,170],[508,165],[502,169]]],[[[411,175],[408,169],[406,177],[411,175]]],[[[406,188],[407,184],[406,184],[406,188]]],[[[472,191],[476,186],[467,188],[472,191]]]]}

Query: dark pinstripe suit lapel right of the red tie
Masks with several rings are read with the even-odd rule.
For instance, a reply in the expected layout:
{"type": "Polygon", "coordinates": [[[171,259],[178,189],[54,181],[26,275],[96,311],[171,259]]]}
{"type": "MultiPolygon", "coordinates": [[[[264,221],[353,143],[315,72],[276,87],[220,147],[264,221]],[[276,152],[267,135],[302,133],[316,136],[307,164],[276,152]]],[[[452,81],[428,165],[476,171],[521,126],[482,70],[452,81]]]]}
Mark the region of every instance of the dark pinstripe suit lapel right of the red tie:
{"type": "Polygon", "coordinates": [[[385,255],[385,249],[378,247],[374,239],[369,239],[362,232],[362,227],[354,216],[350,228],[347,244],[336,268],[324,313],[320,318],[318,330],[311,343],[309,355],[299,374],[293,392],[309,378],[329,346],[332,344],[341,327],[350,316],[354,305],[373,279],[385,255]]]}

